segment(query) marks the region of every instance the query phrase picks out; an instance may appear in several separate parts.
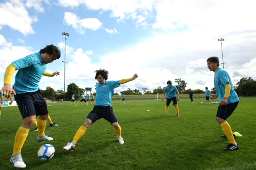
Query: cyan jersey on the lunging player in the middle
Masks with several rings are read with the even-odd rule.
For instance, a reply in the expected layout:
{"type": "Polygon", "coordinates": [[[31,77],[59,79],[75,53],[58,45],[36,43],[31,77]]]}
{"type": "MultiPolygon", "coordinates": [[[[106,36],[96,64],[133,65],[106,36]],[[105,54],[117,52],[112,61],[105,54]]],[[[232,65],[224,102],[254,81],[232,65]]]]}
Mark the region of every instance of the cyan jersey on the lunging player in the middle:
{"type": "Polygon", "coordinates": [[[96,84],[96,106],[111,106],[114,89],[119,87],[118,81],[105,81],[105,83],[96,84]]]}

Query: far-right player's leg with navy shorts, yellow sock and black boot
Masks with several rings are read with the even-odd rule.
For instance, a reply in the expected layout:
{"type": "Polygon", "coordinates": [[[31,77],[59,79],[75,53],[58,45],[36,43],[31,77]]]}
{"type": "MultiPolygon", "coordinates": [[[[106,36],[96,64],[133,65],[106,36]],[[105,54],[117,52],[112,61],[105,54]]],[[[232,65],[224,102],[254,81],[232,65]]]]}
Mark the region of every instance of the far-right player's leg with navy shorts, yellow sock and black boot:
{"type": "Polygon", "coordinates": [[[239,145],[234,139],[232,129],[230,125],[227,123],[226,119],[233,113],[233,111],[237,108],[239,102],[227,104],[223,106],[219,106],[216,119],[220,124],[224,134],[229,140],[229,144],[224,150],[237,150],[239,149],[239,145]]]}

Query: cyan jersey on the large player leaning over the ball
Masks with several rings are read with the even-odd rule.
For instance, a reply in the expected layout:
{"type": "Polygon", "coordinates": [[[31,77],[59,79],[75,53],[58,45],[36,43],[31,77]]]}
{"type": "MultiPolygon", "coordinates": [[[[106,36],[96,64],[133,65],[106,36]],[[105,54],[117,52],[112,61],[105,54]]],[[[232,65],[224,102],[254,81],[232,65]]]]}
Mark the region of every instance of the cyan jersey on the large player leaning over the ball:
{"type": "Polygon", "coordinates": [[[42,61],[40,52],[13,61],[11,64],[18,69],[14,83],[17,94],[35,92],[39,89],[38,84],[47,65],[42,61]]]}

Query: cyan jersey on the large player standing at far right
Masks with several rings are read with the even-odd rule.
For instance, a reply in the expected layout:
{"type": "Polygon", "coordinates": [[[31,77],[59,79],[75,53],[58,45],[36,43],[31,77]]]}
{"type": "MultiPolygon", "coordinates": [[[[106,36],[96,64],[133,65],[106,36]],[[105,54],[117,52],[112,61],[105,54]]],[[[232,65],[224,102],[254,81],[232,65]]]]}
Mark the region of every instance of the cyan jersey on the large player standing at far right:
{"type": "Polygon", "coordinates": [[[228,72],[223,68],[219,68],[214,75],[214,86],[218,94],[219,102],[221,102],[221,100],[224,98],[226,89],[225,86],[228,83],[231,85],[231,90],[228,96],[227,104],[238,102],[238,94],[236,91],[234,91],[233,84],[231,82],[230,76],[228,75],[228,72]]]}

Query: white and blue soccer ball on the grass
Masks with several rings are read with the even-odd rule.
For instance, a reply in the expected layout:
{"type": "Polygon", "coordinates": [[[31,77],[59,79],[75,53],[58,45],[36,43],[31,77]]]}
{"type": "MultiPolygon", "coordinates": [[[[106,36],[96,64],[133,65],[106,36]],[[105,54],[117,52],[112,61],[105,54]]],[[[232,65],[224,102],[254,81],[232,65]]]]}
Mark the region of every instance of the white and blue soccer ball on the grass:
{"type": "Polygon", "coordinates": [[[39,148],[39,151],[37,152],[38,158],[43,161],[51,159],[54,154],[55,154],[55,149],[51,144],[42,145],[39,148]]]}

